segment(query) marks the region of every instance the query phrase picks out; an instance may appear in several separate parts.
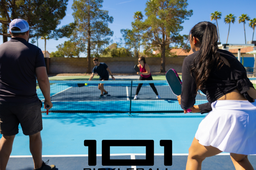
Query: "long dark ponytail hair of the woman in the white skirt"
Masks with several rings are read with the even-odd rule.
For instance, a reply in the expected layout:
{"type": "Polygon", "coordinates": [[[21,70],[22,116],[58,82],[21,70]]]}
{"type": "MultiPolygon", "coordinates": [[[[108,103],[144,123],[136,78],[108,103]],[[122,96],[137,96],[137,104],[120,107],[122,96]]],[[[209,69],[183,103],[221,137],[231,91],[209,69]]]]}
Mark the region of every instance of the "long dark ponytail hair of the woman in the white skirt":
{"type": "Polygon", "coordinates": [[[197,90],[203,89],[204,84],[209,78],[211,71],[221,68],[224,64],[218,51],[217,27],[210,22],[204,21],[196,24],[190,31],[190,40],[195,37],[199,42],[197,44],[200,50],[195,57],[191,68],[195,73],[197,90]]]}

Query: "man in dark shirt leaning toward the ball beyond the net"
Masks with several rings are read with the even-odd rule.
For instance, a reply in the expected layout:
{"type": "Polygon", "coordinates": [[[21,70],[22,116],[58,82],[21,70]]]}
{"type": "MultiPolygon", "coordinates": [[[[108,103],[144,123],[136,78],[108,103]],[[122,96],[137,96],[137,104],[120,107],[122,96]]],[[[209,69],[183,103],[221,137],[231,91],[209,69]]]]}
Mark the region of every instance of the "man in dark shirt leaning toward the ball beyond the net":
{"type": "MultiPolygon", "coordinates": [[[[93,73],[90,76],[89,81],[93,79],[93,77],[96,73],[99,74],[99,80],[100,81],[108,80],[109,79],[108,73],[111,75],[111,78],[113,80],[116,80],[115,77],[113,77],[110,69],[108,68],[108,65],[106,65],[104,62],[99,62],[99,59],[97,57],[95,57],[93,59],[93,63],[95,65],[95,67],[93,68],[93,73]]],[[[104,89],[104,84],[103,83],[99,84],[99,90],[101,91],[101,95],[99,96],[99,99],[103,98],[104,97],[103,95],[108,94],[108,92],[104,89]]]]}

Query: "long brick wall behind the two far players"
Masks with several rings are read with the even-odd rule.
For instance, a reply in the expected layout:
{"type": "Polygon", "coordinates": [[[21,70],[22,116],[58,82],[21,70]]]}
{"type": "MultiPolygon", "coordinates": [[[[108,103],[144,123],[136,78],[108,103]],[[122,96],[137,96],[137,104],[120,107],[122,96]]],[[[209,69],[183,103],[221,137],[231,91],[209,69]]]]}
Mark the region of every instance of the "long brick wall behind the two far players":
{"type": "MultiPolygon", "coordinates": [[[[181,72],[183,57],[168,57],[166,58],[166,71],[174,68],[177,72],[181,72]]],[[[112,73],[135,73],[134,65],[138,64],[138,58],[134,57],[114,57],[114,58],[99,58],[99,62],[105,62],[112,73]]],[[[151,73],[160,72],[161,58],[152,57],[146,58],[151,73]]],[[[87,58],[62,58],[52,57],[49,60],[49,73],[86,73],[87,58]]],[[[91,71],[94,64],[91,58],[91,71]]]]}

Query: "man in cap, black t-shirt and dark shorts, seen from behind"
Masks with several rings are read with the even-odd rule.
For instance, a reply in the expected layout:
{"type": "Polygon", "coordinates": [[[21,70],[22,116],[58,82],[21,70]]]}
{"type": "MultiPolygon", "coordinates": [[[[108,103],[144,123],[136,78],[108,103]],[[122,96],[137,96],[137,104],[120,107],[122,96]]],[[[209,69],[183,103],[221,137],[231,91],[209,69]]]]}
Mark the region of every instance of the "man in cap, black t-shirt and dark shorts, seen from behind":
{"type": "Polygon", "coordinates": [[[36,79],[45,98],[44,108],[52,108],[44,55],[27,42],[29,24],[25,20],[12,20],[9,28],[11,40],[0,45],[0,169],[6,169],[20,124],[29,136],[35,170],[55,170],[55,165],[42,161],[42,102],[36,94],[36,79]]]}

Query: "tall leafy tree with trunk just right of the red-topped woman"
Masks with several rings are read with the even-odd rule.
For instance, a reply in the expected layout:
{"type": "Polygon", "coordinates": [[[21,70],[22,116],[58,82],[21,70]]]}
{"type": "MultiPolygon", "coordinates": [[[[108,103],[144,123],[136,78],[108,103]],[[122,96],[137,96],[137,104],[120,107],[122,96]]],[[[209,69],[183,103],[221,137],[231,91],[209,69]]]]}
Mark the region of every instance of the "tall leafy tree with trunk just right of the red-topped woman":
{"type": "Polygon", "coordinates": [[[143,45],[156,46],[148,51],[153,48],[161,51],[161,73],[166,72],[166,50],[172,48],[171,44],[184,45],[184,40],[188,38],[179,34],[183,30],[181,24],[192,15],[192,10],[186,10],[187,6],[187,0],[149,0],[145,8],[148,18],[144,22],[134,22],[134,26],[143,30],[143,45]]]}

